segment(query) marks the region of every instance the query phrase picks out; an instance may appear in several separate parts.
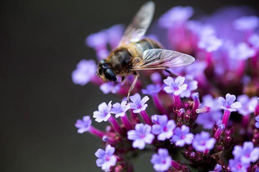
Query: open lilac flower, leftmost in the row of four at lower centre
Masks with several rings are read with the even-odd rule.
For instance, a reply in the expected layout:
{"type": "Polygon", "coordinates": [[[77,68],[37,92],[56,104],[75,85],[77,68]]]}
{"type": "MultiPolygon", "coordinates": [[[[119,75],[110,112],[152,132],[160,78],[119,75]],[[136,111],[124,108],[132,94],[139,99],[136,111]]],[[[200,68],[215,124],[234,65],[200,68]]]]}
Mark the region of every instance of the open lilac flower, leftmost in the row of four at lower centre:
{"type": "Polygon", "coordinates": [[[135,130],[128,131],[128,139],[133,140],[132,147],[144,149],[145,144],[151,144],[154,135],[151,133],[151,126],[148,124],[136,124],[135,130]]]}

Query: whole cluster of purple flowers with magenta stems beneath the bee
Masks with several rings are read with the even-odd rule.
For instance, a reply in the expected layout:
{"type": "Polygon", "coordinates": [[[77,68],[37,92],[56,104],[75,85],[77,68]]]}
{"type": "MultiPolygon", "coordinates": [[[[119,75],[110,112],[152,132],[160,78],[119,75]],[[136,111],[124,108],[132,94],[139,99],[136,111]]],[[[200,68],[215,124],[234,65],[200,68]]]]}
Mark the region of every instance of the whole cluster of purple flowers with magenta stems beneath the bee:
{"type": "MultiPolygon", "coordinates": [[[[98,167],[132,172],[131,160],[152,151],[156,172],[259,171],[259,17],[251,11],[228,7],[190,20],[195,10],[176,6],[163,14],[157,22],[166,33],[162,44],[192,55],[195,62],[142,72],[145,82],[137,81],[129,103],[123,97],[132,75],[104,83],[94,60],[78,63],[75,84],[91,82],[121,99],[102,102],[92,113],[95,121],[109,123],[106,131],[95,128],[90,116],[76,121],[78,133],[91,133],[106,146],[95,153],[98,167]]],[[[104,59],[123,31],[123,25],[114,25],[89,35],[86,44],[104,59]]]]}

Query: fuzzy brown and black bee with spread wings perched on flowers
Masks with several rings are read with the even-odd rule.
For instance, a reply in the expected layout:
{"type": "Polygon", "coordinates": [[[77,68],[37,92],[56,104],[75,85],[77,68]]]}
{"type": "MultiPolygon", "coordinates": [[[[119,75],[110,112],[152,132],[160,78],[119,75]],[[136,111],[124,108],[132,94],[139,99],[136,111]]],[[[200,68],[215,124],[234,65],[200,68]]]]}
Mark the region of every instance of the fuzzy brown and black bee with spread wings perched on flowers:
{"type": "Polygon", "coordinates": [[[117,48],[99,61],[97,75],[104,81],[116,82],[129,74],[135,79],[129,88],[127,100],[138,79],[137,71],[166,70],[192,64],[194,58],[177,51],[164,50],[162,45],[149,38],[142,38],[149,27],[155,10],[153,1],[148,1],[138,10],[123,34],[117,48]]]}

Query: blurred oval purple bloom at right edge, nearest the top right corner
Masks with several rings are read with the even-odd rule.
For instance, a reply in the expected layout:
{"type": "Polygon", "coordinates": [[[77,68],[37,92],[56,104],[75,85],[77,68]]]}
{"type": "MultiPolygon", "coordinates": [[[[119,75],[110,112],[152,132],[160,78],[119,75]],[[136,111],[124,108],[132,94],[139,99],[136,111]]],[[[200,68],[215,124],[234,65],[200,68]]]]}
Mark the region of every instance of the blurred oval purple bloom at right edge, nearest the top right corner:
{"type": "Polygon", "coordinates": [[[237,30],[254,30],[259,26],[258,16],[243,16],[233,22],[234,28],[237,30]]]}

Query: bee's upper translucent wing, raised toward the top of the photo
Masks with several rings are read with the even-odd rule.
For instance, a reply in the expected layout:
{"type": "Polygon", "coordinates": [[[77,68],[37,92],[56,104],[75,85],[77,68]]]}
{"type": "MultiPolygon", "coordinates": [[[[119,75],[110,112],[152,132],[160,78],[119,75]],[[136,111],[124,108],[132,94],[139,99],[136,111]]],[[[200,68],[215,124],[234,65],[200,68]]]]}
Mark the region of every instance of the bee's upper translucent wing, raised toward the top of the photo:
{"type": "Polygon", "coordinates": [[[149,27],[155,10],[153,1],[148,1],[138,10],[135,17],[127,27],[119,46],[128,42],[137,42],[149,27]]]}

